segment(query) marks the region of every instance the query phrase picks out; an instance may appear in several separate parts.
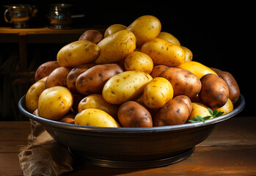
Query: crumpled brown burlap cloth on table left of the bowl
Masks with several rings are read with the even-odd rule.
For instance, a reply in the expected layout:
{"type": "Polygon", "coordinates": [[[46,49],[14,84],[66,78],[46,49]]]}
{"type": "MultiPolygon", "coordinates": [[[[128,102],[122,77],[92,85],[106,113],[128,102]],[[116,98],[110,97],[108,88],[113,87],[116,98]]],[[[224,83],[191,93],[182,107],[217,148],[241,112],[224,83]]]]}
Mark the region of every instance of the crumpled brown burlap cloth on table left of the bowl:
{"type": "Polygon", "coordinates": [[[21,147],[18,158],[23,175],[62,175],[73,170],[67,148],[58,144],[40,123],[31,121],[28,145],[21,147]]]}

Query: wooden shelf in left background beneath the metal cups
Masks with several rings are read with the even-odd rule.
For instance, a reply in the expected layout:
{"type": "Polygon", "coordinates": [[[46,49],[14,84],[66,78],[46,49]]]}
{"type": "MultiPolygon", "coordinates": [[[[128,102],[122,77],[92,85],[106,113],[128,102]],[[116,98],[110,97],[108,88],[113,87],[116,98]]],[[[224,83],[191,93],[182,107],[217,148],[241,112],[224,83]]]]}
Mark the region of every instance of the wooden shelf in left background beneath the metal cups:
{"type": "Polygon", "coordinates": [[[51,29],[48,27],[34,29],[12,29],[0,27],[0,43],[18,43],[21,71],[27,70],[27,45],[31,43],[71,43],[88,29],[104,31],[103,26],[79,29],[51,29]]]}

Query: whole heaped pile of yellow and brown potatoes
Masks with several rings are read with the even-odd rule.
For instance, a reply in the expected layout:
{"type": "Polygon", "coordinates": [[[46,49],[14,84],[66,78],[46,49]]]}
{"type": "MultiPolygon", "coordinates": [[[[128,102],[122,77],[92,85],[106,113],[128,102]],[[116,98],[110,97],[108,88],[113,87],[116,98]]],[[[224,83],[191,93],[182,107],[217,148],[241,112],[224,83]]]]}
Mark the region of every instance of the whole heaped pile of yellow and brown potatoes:
{"type": "Polygon", "coordinates": [[[38,67],[26,107],[50,120],[128,128],[183,124],[211,115],[208,108],[233,111],[235,78],[192,57],[152,15],[105,34],[87,30],[38,67]]]}

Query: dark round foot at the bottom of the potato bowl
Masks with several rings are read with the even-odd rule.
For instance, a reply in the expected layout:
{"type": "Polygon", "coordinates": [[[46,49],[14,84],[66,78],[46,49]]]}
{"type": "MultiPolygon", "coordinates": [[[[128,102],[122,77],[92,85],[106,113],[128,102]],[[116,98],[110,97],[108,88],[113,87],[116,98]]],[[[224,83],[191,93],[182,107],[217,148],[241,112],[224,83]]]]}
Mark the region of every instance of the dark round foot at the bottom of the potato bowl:
{"type": "Polygon", "coordinates": [[[167,166],[170,164],[178,163],[179,161],[183,161],[184,159],[188,158],[192,153],[194,153],[194,149],[195,147],[191,147],[178,155],[153,161],[110,161],[98,158],[91,158],[86,155],[78,154],[73,150],[69,150],[71,155],[74,155],[76,157],[82,156],[82,158],[84,158],[86,161],[97,166],[105,166],[111,168],[153,168],[158,166],[167,166]]]}

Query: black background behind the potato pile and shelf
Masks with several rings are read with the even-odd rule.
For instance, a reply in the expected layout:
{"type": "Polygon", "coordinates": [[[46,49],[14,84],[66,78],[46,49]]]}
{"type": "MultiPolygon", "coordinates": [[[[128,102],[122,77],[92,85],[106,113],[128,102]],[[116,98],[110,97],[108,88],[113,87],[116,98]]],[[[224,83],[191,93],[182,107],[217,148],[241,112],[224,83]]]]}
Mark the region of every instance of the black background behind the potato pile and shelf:
{"type": "MultiPolygon", "coordinates": [[[[194,61],[232,73],[246,98],[246,107],[239,116],[255,115],[253,4],[227,4],[224,1],[120,1],[119,4],[116,1],[103,2],[104,4],[99,1],[1,1],[0,26],[10,26],[1,16],[4,12],[3,4],[26,3],[37,6],[39,11],[37,17],[30,21],[31,27],[48,25],[45,15],[48,4],[53,3],[73,4],[73,13],[86,14],[84,18],[74,21],[74,28],[98,25],[108,27],[114,23],[128,26],[141,15],[154,15],[161,21],[161,31],[177,37],[181,45],[193,52],[194,61]]],[[[7,51],[7,46],[1,44],[0,55],[7,51]]],[[[45,58],[56,59],[56,53],[61,47],[62,45],[48,46],[48,52],[43,53],[41,58],[44,59],[41,62],[45,62],[45,58]]]]}

